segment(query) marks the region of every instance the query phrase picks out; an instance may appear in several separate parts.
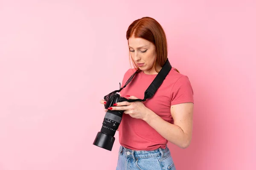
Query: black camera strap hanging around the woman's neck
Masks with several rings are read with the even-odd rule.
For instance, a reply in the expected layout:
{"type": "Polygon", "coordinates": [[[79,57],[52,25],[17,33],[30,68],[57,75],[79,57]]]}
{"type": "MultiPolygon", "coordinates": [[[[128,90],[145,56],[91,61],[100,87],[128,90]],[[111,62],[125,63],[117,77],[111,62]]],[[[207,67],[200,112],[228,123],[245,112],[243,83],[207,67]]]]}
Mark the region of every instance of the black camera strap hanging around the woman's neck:
{"type": "MultiPolygon", "coordinates": [[[[141,101],[144,102],[146,99],[150,99],[154,96],[157,89],[160,87],[160,85],[163,83],[163,80],[166,78],[166,76],[169,74],[169,72],[172,69],[172,65],[169,62],[169,59],[167,58],[165,64],[163,65],[163,68],[159,71],[157,76],[154,78],[153,82],[148,86],[147,90],[144,93],[144,99],[126,99],[127,102],[136,102],[141,101]]],[[[134,74],[131,75],[131,77],[126,81],[125,85],[120,88],[119,90],[113,91],[112,93],[120,92],[123,88],[125,88],[131,80],[134,78],[135,74],[137,74],[139,71],[135,71],[134,74]]]]}

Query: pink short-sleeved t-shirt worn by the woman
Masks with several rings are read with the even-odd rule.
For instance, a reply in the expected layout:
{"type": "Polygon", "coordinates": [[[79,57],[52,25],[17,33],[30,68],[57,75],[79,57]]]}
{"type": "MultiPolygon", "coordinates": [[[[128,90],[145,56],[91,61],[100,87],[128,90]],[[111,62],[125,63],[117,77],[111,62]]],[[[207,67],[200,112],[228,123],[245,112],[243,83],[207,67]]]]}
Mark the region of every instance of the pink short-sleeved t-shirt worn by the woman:
{"type": "MultiPolygon", "coordinates": [[[[122,87],[135,69],[129,69],[122,80],[122,87]]],[[[132,81],[120,92],[120,96],[130,95],[143,99],[144,92],[157,74],[137,73],[132,81]]],[[[151,99],[143,102],[162,119],[173,123],[171,105],[194,102],[193,90],[187,76],[178,73],[175,68],[167,75],[162,85],[151,99]]],[[[168,141],[142,119],[135,119],[123,114],[119,125],[119,142],[123,147],[132,150],[155,150],[165,148],[168,141]]]]}

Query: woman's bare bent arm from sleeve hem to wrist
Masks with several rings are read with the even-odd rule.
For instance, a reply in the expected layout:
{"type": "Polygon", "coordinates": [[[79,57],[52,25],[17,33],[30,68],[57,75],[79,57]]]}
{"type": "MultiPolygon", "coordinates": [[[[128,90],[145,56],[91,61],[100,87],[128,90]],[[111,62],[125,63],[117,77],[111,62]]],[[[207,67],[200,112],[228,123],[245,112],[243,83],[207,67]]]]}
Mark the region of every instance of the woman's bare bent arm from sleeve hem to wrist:
{"type": "Polygon", "coordinates": [[[186,148],[192,139],[193,108],[192,102],[172,105],[171,114],[174,124],[166,122],[149,109],[143,120],[169,142],[178,147],[186,148]]]}

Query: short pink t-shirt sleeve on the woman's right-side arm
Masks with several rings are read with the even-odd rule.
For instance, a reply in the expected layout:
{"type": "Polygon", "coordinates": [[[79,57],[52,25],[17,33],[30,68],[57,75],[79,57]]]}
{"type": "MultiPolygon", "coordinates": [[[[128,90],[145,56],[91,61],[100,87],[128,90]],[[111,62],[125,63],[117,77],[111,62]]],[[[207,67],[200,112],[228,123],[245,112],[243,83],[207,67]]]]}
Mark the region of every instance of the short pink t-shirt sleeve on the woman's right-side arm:
{"type": "Polygon", "coordinates": [[[180,103],[192,102],[194,103],[194,92],[192,85],[187,76],[180,77],[172,87],[171,91],[171,105],[180,103]]]}

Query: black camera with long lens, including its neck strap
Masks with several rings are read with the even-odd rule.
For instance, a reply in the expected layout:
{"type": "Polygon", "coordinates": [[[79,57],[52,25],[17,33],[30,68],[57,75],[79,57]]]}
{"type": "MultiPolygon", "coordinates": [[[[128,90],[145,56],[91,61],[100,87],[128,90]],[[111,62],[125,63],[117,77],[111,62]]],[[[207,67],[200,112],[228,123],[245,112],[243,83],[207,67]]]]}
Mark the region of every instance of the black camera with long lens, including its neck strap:
{"type": "MultiPolygon", "coordinates": [[[[133,79],[135,74],[139,72],[139,70],[135,71],[134,74],[131,75],[131,77],[127,80],[125,85],[121,88],[120,84],[120,89],[111,92],[110,94],[104,96],[105,101],[107,102],[105,104],[105,109],[108,109],[109,107],[112,107],[114,103],[117,102],[145,102],[147,99],[150,99],[151,97],[154,96],[155,92],[157,89],[160,87],[162,84],[163,80],[166,78],[166,76],[169,74],[170,70],[172,69],[172,65],[169,62],[169,59],[167,58],[165,64],[163,65],[163,68],[160,70],[160,72],[157,74],[153,82],[148,86],[147,90],[144,93],[144,99],[126,99],[124,97],[121,97],[118,92],[122,91],[123,88],[125,88],[133,79]]],[[[122,115],[124,111],[111,111],[108,110],[105,114],[103,123],[102,123],[102,128],[100,132],[97,133],[96,138],[94,139],[93,144],[102,147],[106,150],[112,150],[114,141],[115,141],[115,133],[116,130],[118,129],[121,120],[122,120],[122,115]]]]}

